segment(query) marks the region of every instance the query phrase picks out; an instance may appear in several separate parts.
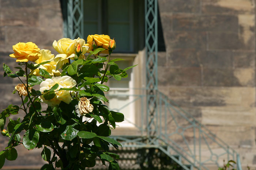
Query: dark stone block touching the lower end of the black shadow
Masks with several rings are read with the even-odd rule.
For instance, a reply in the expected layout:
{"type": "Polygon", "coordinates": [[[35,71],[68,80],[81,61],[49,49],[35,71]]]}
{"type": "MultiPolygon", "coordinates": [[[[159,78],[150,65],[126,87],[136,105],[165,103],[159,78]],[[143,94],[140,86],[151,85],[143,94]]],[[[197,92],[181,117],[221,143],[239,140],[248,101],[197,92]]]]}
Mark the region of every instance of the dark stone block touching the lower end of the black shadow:
{"type": "Polygon", "coordinates": [[[165,32],[166,49],[206,49],[206,32],[165,32]]]}

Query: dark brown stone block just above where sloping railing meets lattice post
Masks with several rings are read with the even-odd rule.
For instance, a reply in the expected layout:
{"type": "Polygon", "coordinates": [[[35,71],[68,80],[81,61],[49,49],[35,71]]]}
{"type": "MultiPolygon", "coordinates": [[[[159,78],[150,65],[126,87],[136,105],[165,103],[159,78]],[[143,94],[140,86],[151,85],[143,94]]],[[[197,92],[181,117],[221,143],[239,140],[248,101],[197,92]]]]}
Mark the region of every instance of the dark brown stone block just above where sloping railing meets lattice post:
{"type": "Polygon", "coordinates": [[[201,69],[198,67],[159,68],[158,83],[161,86],[200,86],[201,69]]]}

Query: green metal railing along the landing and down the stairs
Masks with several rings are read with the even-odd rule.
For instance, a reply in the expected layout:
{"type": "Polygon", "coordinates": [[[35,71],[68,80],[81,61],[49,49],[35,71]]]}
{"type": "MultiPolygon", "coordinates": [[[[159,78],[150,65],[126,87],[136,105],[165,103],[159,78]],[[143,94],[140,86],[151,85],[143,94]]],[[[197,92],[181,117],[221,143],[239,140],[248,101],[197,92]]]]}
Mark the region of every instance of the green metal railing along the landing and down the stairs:
{"type": "MultiPolygon", "coordinates": [[[[147,101],[147,95],[135,95],[135,91],[136,89],[134,94],[120,94],[132,97],[133,100],[114,110],[122,112],[128,110],[132,104],[143,106],[147,101]]],[[[111,95],[108,96],[111,97],[111,95]]],[[[117,96],[115,94],[112,97],[117,96]]],[[[133,128],[137,130],[135,130],[136,133],[132,136],[118,135],[112,138],[119,140],[123,147],[159,148],[186,170],[193,167],[200,170],[208,170],[212,167],[217,169],[223,166],[223,160],[236,161],[237,169],[241,170],[239,154],[234,149],[163,93],[157,91],[155,97],[158,110],[154,115],[156,120],[154,135],[148,136],[147,128],[150,126],[146,121],[147,112],[144,107],[141,107],[140,110],[135,108],[133,112],[135,115],[138,113],[142,115],[140,123],[126,120],[133,124],[133,128]]]]}

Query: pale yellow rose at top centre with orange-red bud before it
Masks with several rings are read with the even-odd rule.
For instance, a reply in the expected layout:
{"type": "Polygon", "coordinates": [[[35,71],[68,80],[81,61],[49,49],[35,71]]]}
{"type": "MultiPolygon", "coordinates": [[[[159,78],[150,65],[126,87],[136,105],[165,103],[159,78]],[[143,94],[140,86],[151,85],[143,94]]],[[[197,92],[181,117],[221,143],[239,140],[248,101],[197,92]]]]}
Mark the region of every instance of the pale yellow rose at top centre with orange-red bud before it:
{"type": "Polygon", "coordinates": [[[75,49],[78,44],[82,46],[82,54],[85,54],[89,47],[86,46],[84,39],[78,37],[74,40],[69,38],[62,38],[58,41],[54,40],[52,46],[58,53],[60,53],[54,58],[54,61],[57,62],[56,70],[67,63],[69,58],[74,59],[75,49]]]}

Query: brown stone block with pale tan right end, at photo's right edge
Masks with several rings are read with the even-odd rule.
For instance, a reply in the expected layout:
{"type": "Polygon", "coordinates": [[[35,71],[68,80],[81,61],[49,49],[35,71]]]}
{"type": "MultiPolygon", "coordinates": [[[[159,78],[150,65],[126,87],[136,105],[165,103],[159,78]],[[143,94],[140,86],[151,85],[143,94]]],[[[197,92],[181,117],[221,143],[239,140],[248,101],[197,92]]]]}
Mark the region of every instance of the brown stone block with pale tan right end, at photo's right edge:
{"type": "Polygon", "coordinates": [[[254,86],[254,69],[210,69],[204,68],[204,86],[254,86]]]}

